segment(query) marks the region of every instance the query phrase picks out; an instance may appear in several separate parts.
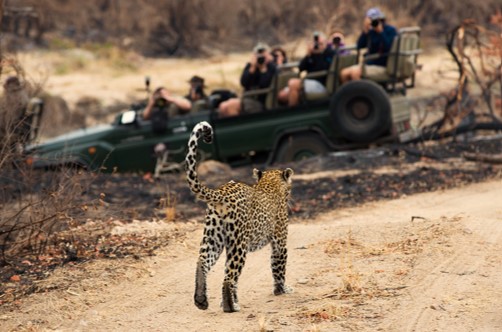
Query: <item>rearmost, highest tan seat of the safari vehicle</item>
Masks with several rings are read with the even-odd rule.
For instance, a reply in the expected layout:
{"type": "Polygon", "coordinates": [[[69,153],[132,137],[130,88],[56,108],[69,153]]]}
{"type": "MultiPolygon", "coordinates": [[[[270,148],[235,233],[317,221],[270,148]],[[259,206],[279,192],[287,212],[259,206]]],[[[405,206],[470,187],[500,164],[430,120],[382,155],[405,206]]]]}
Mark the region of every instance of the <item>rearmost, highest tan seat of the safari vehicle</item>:
{"type": "MultiPolygon", "coordinates": [[[[413,87],[415,84],[417,58],[420,53],[420,28],[400,29],[392,42],[386,70],[376,75],[370,75],[366,72],[365,66],[363,66],[362,76],[377,83],[390,85],[390,88],[387,88],[388,90],[394,90],[396,83],[402,83],[405,88],[413,87]],[[411,79],[411,82],[407,83],[406,80],[408,79],[411,79]]],[[[373,57],[369,56],[366,59],[369,58],[373,57]]]]}

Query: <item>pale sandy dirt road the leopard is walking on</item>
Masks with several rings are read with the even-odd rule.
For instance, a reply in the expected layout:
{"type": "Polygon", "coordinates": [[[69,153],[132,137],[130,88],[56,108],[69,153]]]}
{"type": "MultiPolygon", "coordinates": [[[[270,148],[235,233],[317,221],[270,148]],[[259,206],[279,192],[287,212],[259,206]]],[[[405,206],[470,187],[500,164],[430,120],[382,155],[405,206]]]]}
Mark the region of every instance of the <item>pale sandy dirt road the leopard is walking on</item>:
{"type": "Polygon", "coordinates": [[[59,331],[501,331],[502,181],[359,208],[290,226],[287,281],[272,294],[270,250],[248,256],[241,312],[219,303],[223,261],[209,275],[209,309],[193,305],[202,227],[144,261],[66,267],[0,330],[59,331]]]}

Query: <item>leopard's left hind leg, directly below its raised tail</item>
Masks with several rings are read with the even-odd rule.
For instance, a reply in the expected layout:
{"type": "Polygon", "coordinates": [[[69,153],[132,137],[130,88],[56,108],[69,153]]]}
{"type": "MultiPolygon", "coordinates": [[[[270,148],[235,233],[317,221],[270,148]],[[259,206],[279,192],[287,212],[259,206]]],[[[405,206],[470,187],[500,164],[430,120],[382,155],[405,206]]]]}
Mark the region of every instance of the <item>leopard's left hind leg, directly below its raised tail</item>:
{"type": "Polygon", "coordinates": [[[206,310],[209,306],[207,301],[207,274],[220,257],[223,248],[224,236],[221,221],[217,220],[208,211],[195,272],[194,303],[201,310],[206,310]]]}

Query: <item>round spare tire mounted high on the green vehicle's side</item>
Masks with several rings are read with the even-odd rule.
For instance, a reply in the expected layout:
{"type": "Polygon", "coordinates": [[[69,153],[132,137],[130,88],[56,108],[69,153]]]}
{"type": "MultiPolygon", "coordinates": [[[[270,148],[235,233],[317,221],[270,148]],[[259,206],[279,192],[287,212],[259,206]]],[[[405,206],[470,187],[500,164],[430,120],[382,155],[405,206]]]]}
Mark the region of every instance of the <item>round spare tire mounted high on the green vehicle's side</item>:
{"type": "Polygon", "coordinates": [[[330,101],[331,123],[347,140],[369,143],[391,126],[391,105],[385,90],[368,80],[343,84],[330,101]]]}

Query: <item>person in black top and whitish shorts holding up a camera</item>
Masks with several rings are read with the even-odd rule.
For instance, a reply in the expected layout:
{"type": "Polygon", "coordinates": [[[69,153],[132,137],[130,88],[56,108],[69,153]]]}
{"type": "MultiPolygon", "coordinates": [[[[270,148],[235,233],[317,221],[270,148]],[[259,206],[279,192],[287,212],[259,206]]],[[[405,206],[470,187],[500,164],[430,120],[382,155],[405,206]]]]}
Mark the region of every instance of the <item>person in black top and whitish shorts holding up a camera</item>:
{"type": "MultiPolygon", "coordinates": [[[[300,72],[312,73],[329,69],[333,60],[333,49],[327,47],[326,37],[321,32],[314,32],[307,46],[307,54],[298,65],[300,72]]],[[[300,103],[302,89],[306,94],[323,93],[326,91],[326,77],[312,79],[292,78],[288,86],[279,92],[279,102],[288,106],[296,106],[300,103]]]]}

